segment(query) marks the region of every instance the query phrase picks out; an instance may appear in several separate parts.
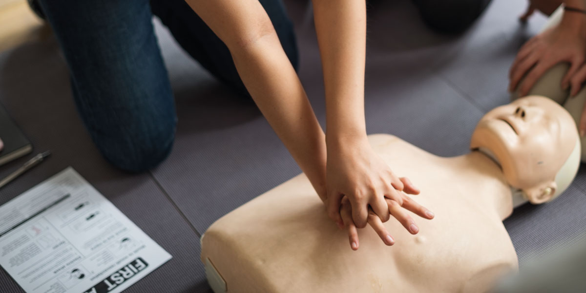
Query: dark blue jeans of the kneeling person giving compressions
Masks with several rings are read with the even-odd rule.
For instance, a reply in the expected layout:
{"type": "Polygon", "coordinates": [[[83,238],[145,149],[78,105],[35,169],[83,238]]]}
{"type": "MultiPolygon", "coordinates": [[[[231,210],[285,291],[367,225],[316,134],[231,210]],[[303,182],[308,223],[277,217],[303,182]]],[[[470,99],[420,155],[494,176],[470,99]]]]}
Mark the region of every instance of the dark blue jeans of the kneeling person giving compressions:
{"type": "MultiPolygon", "coordinates": [[[[213,0],[210,0],[213,1],[213,0]]],[[[260,0],[297,68],[293,27],[281,0],[260,0]]],[[[184,0],[40,0],[62,47],[77,110],[104,157],[141,172],[171,151],[175,102],[152,16],[217,79],[248,96],[226,45],[184,0]]]]}

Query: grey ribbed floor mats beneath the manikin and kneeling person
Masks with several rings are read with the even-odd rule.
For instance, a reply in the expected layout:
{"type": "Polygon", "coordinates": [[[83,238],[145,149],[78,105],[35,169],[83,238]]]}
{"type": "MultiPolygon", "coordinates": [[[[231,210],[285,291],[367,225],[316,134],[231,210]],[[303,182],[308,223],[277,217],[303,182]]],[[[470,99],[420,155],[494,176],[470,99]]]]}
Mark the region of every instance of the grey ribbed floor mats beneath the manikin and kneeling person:
{"type": "MultiPolygon", "coordinates": [[[[305,1],[287,4],[298,33],[299,76],[323,123],[323,84],[311,13],[305,1]]],[[[480,21],[455,38],[425,28],[408,0],[370,2],[369,133],[391,133],[438,155],[466,152],[476,121],[507,101],[506,73],[517,48],[544,22],[543,16],[536,16],[521,26],[516,19],[525,5],[522,0],[493,0],[480,21]]],[[[0,54],[0,101],[36,151],[53,151],[48,162],[2,189],[0,203],[71,165],[173,255],[129,291],[209,291],[199,262],[200,234],[299,169],[250,100],[223,88],[158,22],[156,30],[179,124],[172,154],[142,175],[113,169],[91,144],[74,109],[66,66],[54,40],[0,54]]],[[[3,166],[0,177],[25,160],[3,166]]],[[[522,262],[584,231],[585,177],[586,172],[580,172],[556,202],[522,207],[505,222],[522,262]]],[[[0,288],[20,291],[4,271],[0,288]]]]}

